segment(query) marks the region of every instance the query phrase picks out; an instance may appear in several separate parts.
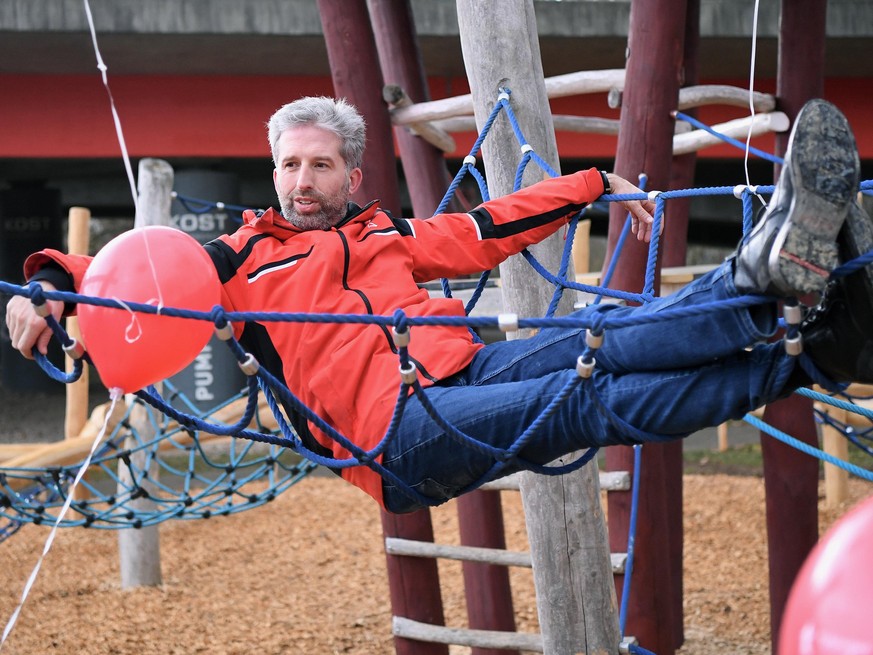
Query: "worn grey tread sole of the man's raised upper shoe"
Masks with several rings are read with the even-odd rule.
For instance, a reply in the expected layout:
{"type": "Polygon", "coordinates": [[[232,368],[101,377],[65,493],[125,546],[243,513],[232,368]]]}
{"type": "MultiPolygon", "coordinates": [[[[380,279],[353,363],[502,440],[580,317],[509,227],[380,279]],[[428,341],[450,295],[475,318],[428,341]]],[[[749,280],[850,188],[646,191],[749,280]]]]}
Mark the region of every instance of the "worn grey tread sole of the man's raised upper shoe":
{"type": "Polygon", "coordinates": [[[821,292],[839,263],[837,234],[858,188],[860,163],[846,117],[824,100],[804,105],[786,155],[793,198],[768,262],[789,295],[821,292]]]}

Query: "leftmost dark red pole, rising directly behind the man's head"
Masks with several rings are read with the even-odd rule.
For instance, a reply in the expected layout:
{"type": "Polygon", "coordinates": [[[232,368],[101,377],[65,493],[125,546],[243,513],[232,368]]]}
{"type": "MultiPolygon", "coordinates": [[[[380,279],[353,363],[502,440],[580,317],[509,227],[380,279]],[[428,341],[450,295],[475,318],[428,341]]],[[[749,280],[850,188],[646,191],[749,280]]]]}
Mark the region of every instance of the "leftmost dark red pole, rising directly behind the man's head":
{"type": "MultiPolygon", "coordinates": [[[[382,206],[400,210],[394,140],[388,111],[382,101],[382,75],[376,41],[365,0],[318,0],[330,59],[334,93],[358,107],[367,121],[367,156],[361,202],[379,198],[382,206]]],[[[433,541],[430,512],[382,513],[386,537],[433,541]]],[[[436,562],[432,559],[386,555],[391,607],[395,616],[442,625],[442,596],[436,562]]],[[[395,639],[398,655],[448,655],[448,646],[395,639]]]]}

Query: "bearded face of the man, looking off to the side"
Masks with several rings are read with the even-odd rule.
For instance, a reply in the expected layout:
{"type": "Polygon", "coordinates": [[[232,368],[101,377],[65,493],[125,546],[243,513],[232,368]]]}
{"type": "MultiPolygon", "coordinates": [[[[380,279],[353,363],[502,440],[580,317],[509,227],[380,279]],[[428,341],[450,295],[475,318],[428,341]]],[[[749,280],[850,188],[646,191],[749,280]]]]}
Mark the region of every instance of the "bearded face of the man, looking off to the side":
{"type": "Polygon", "coordinates": [[[339,223],[361,184],[361,169],[346,170],[340,139],[304,125],[286,130],[277,144],[273,184],[282,215],[302,230],[327,230],[339,223]]]}

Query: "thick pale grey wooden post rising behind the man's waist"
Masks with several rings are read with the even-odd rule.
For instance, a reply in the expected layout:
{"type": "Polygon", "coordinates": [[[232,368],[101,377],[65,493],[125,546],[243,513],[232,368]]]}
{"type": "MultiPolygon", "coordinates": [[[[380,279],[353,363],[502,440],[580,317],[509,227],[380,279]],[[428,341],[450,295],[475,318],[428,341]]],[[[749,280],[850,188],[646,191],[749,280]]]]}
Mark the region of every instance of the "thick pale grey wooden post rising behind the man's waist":
{"type": "MultiPolygon", "coordinates": [[[[476,124],[481,129],[500,88],[511,103],[522,132],[536,152],[558,170],[557,145],[543,81],[533,2],[458,0],[461,49],[473,89],[476,124]]],[[[512,191],[519,145],[505,117],[496,120],[484,150],[492,197],[512,191]]],[[[543,173],[528,167],[527,186],[543,173]]],[[[550,270],[560,262],[562,239],[554,235],[531,250],[550,270]]],[[[542,316],[551,287],[520,256],[500,266],[504,306],[520,316],[542,316]]],[[[560,311],[573,300],[564,298],[560,311]]],[[[615,590],[600,513],[596,467],[574,474],[521,479],[528,521],[537,610],[546,653],[605,652],[618,649],[615,590]]]]}

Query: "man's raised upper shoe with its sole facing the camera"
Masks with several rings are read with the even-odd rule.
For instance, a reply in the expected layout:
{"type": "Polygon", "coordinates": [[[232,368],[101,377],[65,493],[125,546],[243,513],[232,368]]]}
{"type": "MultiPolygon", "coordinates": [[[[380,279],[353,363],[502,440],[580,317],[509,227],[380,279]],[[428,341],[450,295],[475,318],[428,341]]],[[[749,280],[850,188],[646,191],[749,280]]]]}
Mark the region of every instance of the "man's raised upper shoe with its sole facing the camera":
{"type": "Polygon", "coordinates": [[[823,292],[839,263],[837,235],[859,177],[846,117],[829,102],[810,100],[791,130],[767,211],[739,248],[737,290],[782,297],[823,292]]]}

